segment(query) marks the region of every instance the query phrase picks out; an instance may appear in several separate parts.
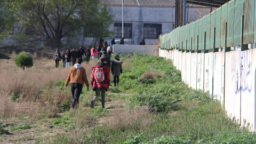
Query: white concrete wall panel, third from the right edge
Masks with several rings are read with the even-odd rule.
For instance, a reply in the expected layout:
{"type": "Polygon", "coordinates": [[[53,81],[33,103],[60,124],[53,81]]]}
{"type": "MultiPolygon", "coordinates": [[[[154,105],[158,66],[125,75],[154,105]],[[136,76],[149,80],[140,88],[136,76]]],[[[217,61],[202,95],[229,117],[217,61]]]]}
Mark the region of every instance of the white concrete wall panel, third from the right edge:
{"type": "Polygon", "coordinates": [[[213,95],[224,104],[224,52],[215,52],[213,59],[213,95]]]}

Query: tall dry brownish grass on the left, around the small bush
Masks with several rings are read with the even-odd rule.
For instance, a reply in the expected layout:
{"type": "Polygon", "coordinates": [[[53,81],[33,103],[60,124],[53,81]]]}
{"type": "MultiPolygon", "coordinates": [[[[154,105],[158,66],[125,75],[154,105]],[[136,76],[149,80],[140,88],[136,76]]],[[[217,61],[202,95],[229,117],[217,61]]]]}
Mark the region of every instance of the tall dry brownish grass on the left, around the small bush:
{"type": "MultiPolygon", "coordinates": [[[[82,63],[89,84],[95,64],[82,63]]],[[[65,81],[68,73],[69,69],[62,69],[62,61],[59,69],[55,70],[55,62],[47,58],[34,60],[34,66],[25,70],[15,66],[13,59],[0,60],[0,117],[14,117],[20,111],[33,117],[40,113],[45,117],[56,116],[59,110],[57,104],[71,100],[70,88],[61,91],[56,85],[59,81],[65,81]],[[13,94],[19,94],[17,101],[12,100],[13,94]]]]}

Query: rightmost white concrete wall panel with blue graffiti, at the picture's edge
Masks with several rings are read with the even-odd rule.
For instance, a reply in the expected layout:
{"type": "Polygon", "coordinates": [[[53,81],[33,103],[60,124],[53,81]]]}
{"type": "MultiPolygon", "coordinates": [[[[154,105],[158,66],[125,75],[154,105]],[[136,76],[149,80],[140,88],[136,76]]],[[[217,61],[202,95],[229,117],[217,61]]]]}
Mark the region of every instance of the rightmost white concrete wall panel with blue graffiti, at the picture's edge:
{"type": "Polygon", "coordinates": [[[241,120],[255,130],[255,50],[242,51],[241,120]],[[254,56],[254,57],[253,57],[254,56]]]}

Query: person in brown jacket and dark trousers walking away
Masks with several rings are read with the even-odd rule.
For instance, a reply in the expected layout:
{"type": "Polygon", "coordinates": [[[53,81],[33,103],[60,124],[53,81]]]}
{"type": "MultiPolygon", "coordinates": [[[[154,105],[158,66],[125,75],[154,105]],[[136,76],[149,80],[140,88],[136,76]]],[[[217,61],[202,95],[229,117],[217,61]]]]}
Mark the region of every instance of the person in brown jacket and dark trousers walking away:
{"type": "Polygon", "coordinates": [[[87,91],[89,91],[89,82],[87,80],[86,71],[84,67],[81,65],[83,60],[78,58],[76,62],[77,63],[70,68],[68,77],[65,83],[65,89],[66,89],[68,83],[70,82],[70,89],[72,92],[73,101],[70,109],[78,108],[79,97],[80,97],[80,94],[82,93],[84,83],[87,86],[87,91]]]}

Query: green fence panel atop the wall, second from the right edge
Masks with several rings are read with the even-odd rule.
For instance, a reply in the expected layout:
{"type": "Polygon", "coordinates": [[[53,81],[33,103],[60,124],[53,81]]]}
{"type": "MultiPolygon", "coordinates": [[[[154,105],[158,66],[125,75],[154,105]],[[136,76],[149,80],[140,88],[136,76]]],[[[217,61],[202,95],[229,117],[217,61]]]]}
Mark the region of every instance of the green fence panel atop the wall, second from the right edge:
{"type": "Polygon", "coordinates": [[[234,40],[233,45],[241,45],[242,36],[242,16],[244,14],[244,1],[235,0],[235,18],[234,18],[234,40]]]}

